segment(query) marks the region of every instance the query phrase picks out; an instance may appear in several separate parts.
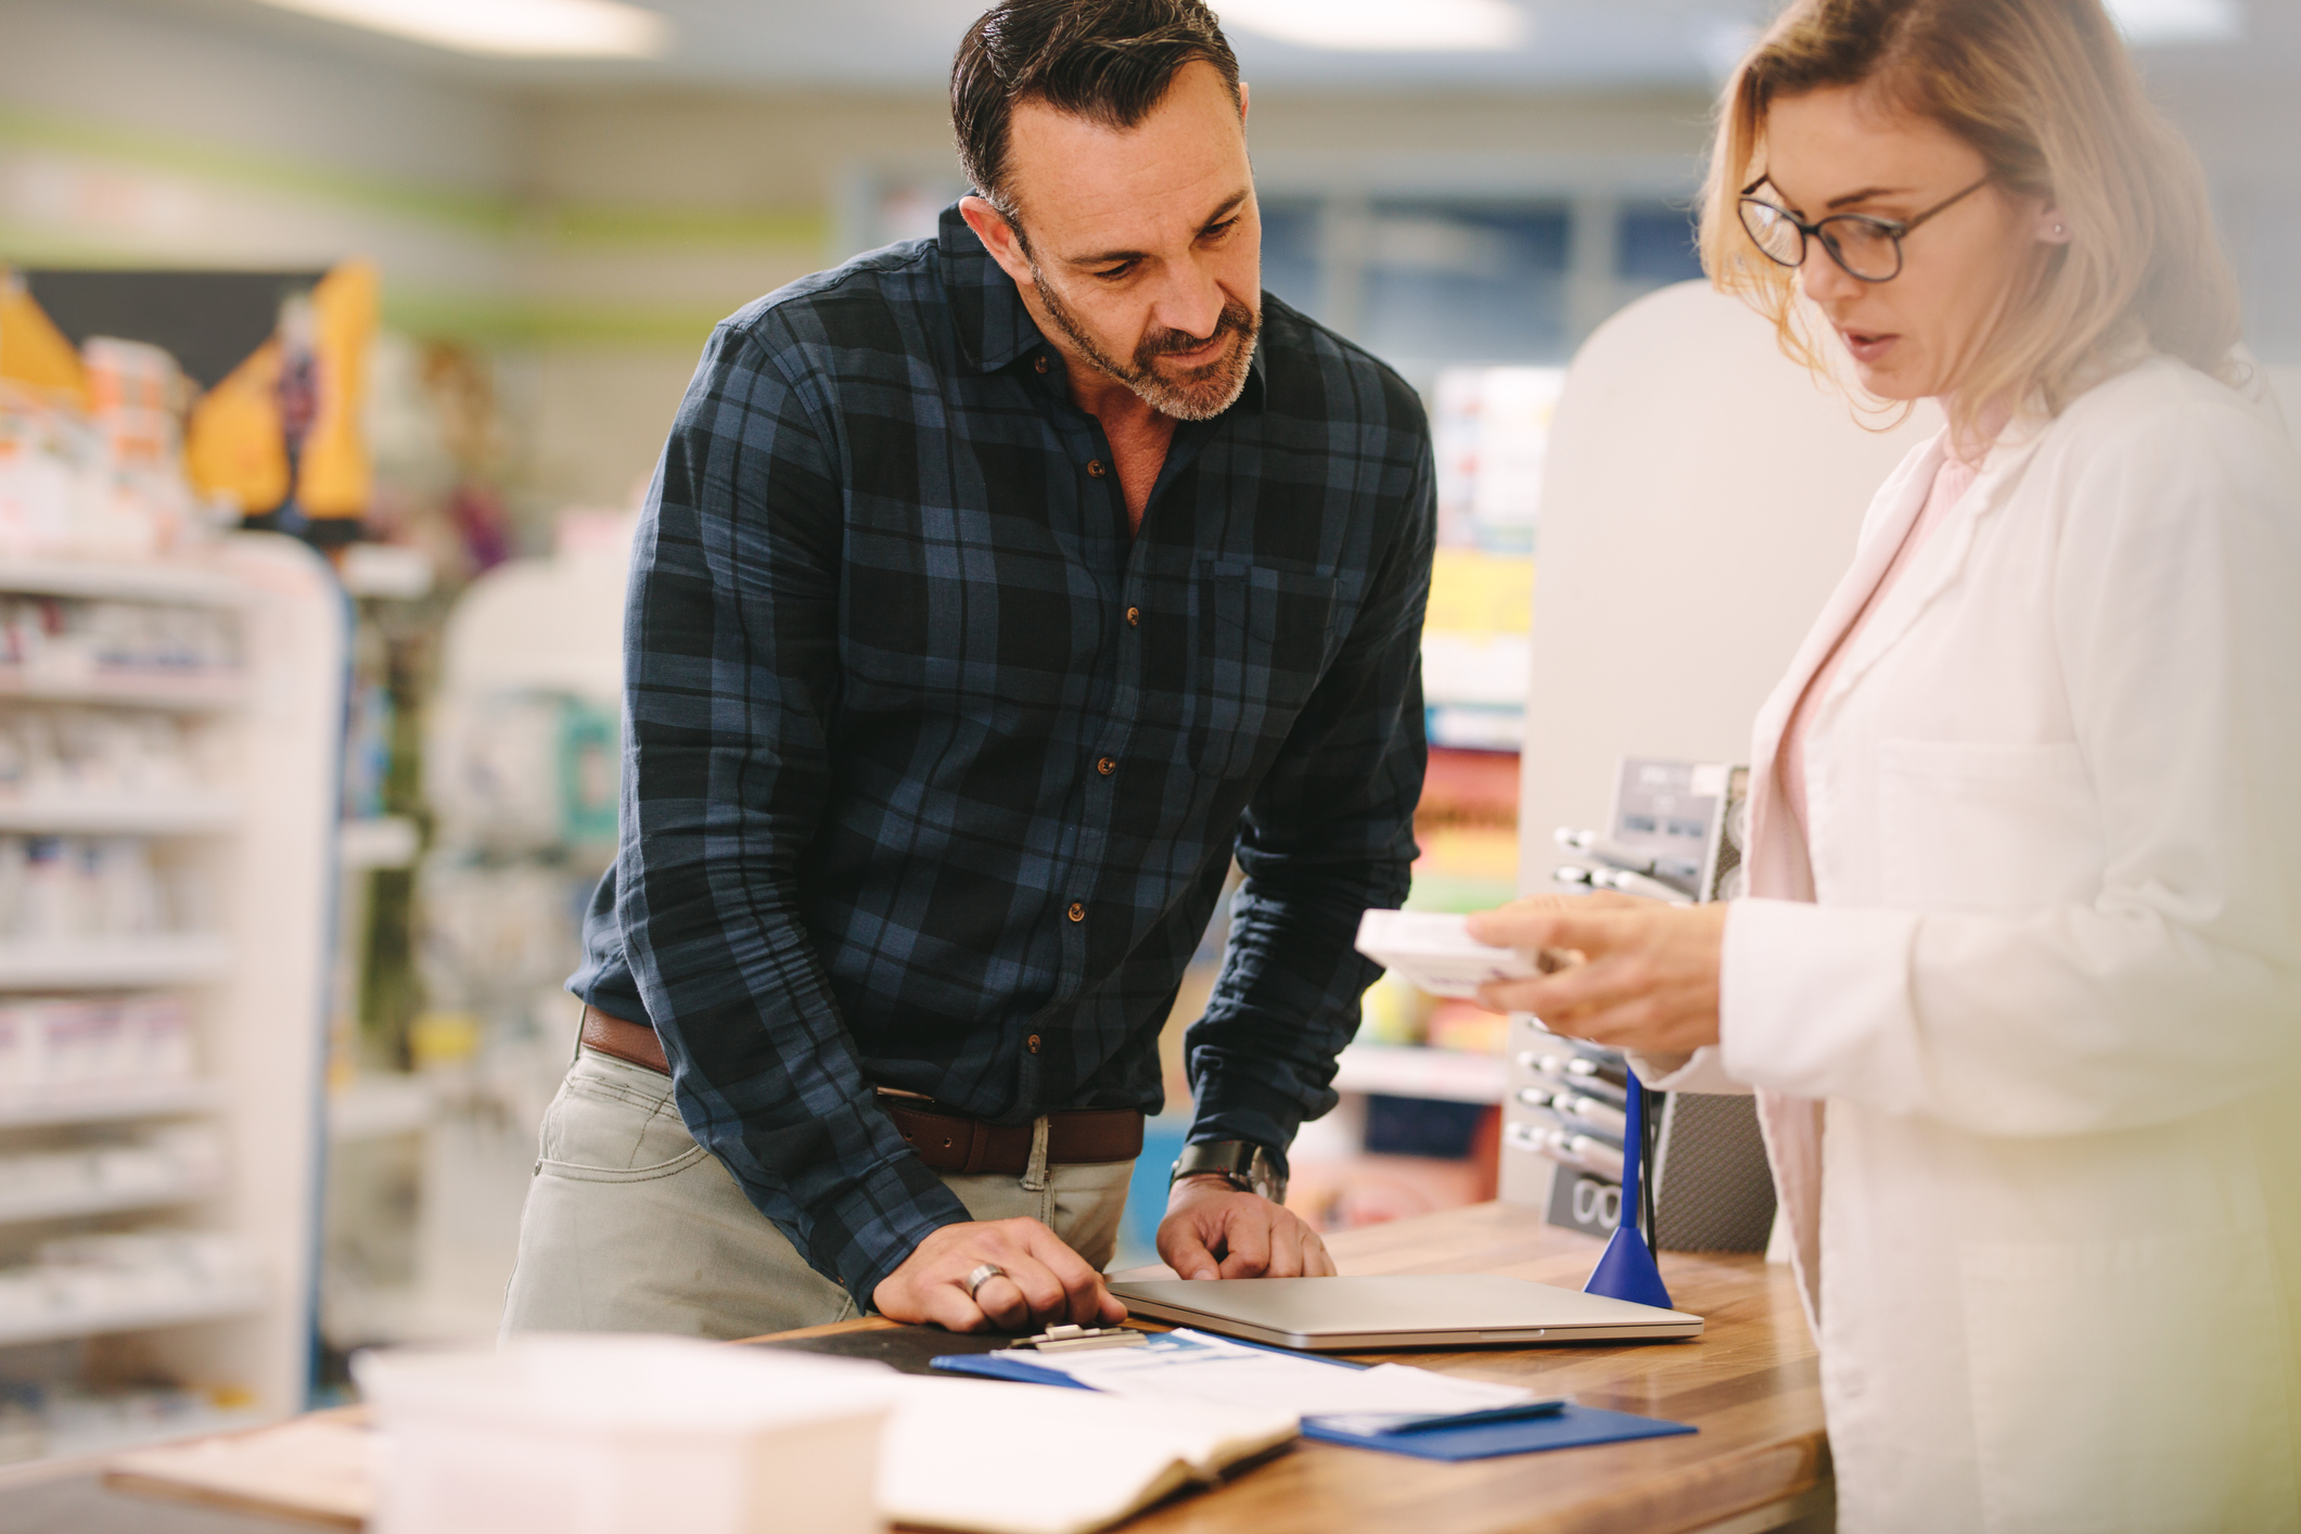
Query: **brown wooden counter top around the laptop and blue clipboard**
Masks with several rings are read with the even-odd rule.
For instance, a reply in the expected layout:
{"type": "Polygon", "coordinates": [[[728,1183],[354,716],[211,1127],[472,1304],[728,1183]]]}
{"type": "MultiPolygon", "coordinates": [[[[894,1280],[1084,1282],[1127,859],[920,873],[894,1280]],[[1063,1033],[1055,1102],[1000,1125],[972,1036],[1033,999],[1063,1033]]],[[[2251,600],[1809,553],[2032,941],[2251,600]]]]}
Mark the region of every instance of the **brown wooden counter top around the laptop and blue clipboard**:
{"type": "MultiPolygon", "coordinates": [[[[1599,1244],[1537,1210],[1475,1205],[1328,1237],[1346,1274],[1496,1272],[1581,1288],[1599,1244]]],[[[1148,1274],[1144,1274],[1148,1276],[1148,1274]]],[[[1829,1527],[1829,1447],[1813,1336],[1788,1267],[1661,1253],[1687,1343],[1367,1352],[1700,1428],[1463,1465],[1298,1444],[1229,1486],[1153,1509],[1127,1534],[1758,1534],[1829,1527]],[[1806,1525],[1804,1520],[1813,1520],[1806,1525]]],[[[838,1329],[886,1327],[881,1320],[838,1329]]],[[[821,1332],[821,1329],[819,1329],[821,1332]]]]}

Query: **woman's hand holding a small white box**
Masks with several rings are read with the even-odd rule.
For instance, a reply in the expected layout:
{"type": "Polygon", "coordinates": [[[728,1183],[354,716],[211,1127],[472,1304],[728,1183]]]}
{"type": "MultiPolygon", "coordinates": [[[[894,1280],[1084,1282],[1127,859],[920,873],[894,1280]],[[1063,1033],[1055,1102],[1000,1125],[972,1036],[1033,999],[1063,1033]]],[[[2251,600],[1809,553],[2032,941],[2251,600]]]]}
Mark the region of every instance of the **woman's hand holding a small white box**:
{"type": "Polygon", "coordinates": [[[1684,1056],[1719,1042],[1726,906],[1671,906],[1629,895],[1535,895],[1470,918],[1493,948],[1581,954],[1539,980],[1496,980],[1477,998],[1532,1012],[1551,1033],[1608,1049],[1684,1056]]]}

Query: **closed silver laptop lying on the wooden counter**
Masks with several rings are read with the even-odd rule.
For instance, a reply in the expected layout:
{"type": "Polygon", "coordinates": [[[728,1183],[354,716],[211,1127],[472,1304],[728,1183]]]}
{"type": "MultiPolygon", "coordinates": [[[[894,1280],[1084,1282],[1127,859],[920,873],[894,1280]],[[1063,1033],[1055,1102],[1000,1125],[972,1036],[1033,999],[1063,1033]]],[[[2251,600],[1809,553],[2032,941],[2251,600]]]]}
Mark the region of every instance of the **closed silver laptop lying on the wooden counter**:
{"type": "Polygon", "coordinates": [[[1134,1316],[1305,1352],[1700,1336],[1703,1318],[1500,1274],[1121,1279],[1134,1316]]]}

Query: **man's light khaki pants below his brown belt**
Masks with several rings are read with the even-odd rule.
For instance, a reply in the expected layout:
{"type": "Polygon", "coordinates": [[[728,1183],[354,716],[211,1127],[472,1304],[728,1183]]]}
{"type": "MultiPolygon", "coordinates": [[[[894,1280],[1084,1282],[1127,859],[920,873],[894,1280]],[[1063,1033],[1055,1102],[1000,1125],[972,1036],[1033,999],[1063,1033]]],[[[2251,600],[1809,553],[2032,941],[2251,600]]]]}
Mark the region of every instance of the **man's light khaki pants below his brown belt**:
{"type": "MultiPolygon", "coordinates": [[[[1045,1148],[1047,1136],[1033,1136],[1045,1148]]],[[[672,1083],[582,1049],[543,1113],[511,1332],[759,1336],[856,1316],[679,1122],[672,1083]]],[[[1045,1150],[1040,1150],[1045,1155],[1045,1150]]],[[[1045,1221],[1098,1272],[1118,1247],[1132,1161],[943,1173],[976,1219],[1045,1221]]]]}

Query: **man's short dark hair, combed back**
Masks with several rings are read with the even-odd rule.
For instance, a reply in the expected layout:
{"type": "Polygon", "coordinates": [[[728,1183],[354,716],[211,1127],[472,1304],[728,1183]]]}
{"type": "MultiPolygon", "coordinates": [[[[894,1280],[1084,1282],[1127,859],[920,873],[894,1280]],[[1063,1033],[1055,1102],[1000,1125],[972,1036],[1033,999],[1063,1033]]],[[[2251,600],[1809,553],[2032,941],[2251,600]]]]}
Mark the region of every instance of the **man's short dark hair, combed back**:
{"type": "Polygon", "coordinates": [[[1238,57],[1199,0],[1001,0],[950,60],[950,126],[976,191],[1015,223],[1008,124],[1022,101],[1132,129],[1187,64],[1213,64],[1238,99],[1238,57]]]}

